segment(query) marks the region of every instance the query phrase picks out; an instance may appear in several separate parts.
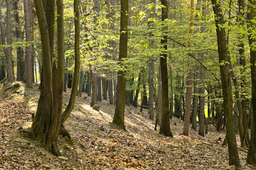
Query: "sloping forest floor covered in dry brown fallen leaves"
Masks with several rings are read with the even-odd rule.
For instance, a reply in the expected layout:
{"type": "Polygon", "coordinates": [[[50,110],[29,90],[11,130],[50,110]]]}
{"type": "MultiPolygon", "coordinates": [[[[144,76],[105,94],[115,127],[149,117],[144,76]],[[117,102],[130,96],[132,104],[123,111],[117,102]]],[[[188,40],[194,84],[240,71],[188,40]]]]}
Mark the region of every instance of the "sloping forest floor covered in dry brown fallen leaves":
{"type": "MultiPolygon", "coordinates": [[[[174,137],[165,137],[154,131],[147,110],[140,113],[139,108],[126,106],[125,132],[111,123],[113,105],[103,100],[96,111],[85,94],[77,97],[65,123],[74,143],[59,137],[59,149],[68,160],[59,159],[20,128],[29,126],[24,123],[31,122],[36,112],[38,85],[29,89],[15,83],[0,83],[0,170],[225,170],[228,166],[228,149],[221,146],[225,133],[216,132],[214,126],[209,125],[204,137],[192,129],[189,136],[182,136],[182,120],[173,118],[174,137]]],[[[69,96],[70,90],[64,93],[63,108],[69,96]]],[[[237,141],[239,145],[238,136],[237,141]]],[[[246,164],[246,154],[239,150],[241,169],[256,169],[246,164]]]]}

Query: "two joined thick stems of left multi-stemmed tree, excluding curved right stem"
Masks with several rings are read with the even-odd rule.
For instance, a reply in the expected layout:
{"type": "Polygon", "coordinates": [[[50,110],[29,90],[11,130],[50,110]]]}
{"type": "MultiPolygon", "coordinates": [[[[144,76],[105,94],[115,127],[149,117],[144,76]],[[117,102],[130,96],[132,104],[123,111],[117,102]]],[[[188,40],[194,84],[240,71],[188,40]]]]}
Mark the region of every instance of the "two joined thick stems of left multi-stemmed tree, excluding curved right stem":
{"type": "Polygon", "coordinates": [[[42,76],[40,97],[35,122],[32,125],[33,134],[48,147],[48,150],[60,155],[57,146],[60,119],[62,111],[62,91],[64,79],[64,32],[63,32],[63,1],[57,0],[57,29],[58,29],[58,63],[57,78],[53,85],[52,56],[53,25],[55,1],[48,0],[44,8],[42,0],[34,0],[39,22],[42,44],[42,76]],[[46,10],[46,12],[44,11],[46,10]],[[46,17],[47,16],[47,17],[46,17]]]}

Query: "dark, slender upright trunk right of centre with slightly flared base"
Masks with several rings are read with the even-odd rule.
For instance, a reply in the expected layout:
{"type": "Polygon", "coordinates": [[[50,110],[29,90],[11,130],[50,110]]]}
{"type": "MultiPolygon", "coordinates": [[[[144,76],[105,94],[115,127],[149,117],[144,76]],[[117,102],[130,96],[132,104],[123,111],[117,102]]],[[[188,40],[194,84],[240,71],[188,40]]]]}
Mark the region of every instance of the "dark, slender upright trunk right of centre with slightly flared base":
{"type": "Polygon", "coordinates": [[[164,136],[171,136],[173,134],[170,129],[170,115],[169,115],[169,96],[168,96],[168,70],[167,70],[167,25],[165,20],[168,18],[167,0],[161,0],[162,7],[162,34],[161,39],[162,53],[160,56],[161,66],[161,81],[162,81],[162,115],[159,133],[164,136]]]}

